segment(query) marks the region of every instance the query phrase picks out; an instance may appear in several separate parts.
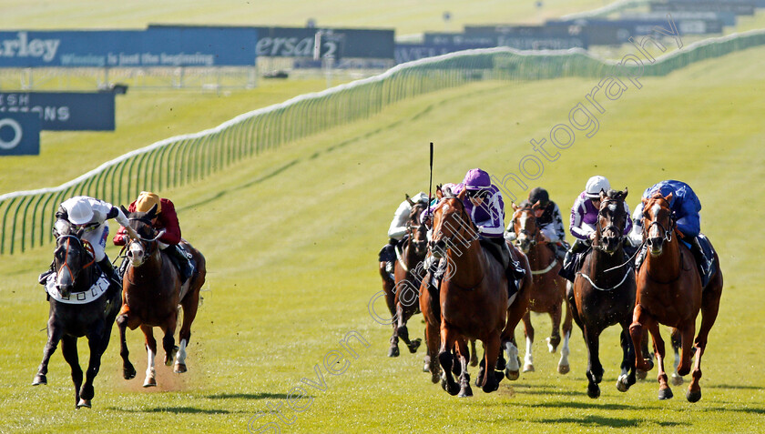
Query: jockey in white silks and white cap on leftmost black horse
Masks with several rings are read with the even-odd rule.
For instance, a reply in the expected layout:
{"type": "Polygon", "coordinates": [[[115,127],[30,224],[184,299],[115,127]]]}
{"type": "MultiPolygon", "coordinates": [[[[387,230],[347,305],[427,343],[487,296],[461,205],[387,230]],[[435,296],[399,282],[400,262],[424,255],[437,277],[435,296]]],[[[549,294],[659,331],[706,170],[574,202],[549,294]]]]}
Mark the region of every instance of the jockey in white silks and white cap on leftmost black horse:
{"type": "MultiPolygon", "coordinates": [[[[120,225],[128,225],[128,217],[125,217],[125,214],[118,207],[110,203],[87,196],[71,197],[58,207],[53,232],[57,238],[60,234],[85,229],[81,239],[93,247],[94,259],[98,263],[98,267],[101,268],[107,278],[117,284],[117,287],[122,288],[122,282],[115,273],[105,250],[109,236],[107,224],[109,218],[115,218],[120,225]]],[[[132,227],[129,229],[129,234],[131,237],[138,237],[132,227]]],[[[40,275],[40,283],[45,285],[47,276],[53,272],[51,266],[50,271],[40,275]]]]}

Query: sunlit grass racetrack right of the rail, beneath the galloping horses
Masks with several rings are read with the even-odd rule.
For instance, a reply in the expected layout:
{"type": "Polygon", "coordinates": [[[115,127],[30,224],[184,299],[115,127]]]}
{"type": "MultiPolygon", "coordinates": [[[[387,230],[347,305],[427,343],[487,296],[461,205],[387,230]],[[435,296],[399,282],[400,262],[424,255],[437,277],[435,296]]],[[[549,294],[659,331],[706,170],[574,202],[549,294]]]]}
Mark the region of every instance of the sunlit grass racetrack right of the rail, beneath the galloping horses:
{"type": "MultiPolygon", "coordinates": [[[[725,275],[699,403],[683,398],[685,387],[673,388],[675,399],[658,401],[656,369],[618,392],[617,328],[601,337],[601,398],[588,399],[581,332],[575,327],[571,340],[572,372],[560,376],[558,355],[545,351],[544,317],[533,318],[536,371],[503,380],[491,395],[476,389],[471,399],[448,396],[422,373],[423,349],[386,357],[390,327],[368,311],[381,288],[377,251],[403,193],[428,187],[427,143],[435,143],[434,183],[458,181],[472,167],[497,177],[517,173],[518,161],[533,152],[528,141],[566,122],[597,84],[566,78],[484,82],[420,96],[161,192],[175,201],[184,236],[208,261],[189,372],[176,376],[158,363],[159,387],[142,389],[145,352],[133,331],[128,343],[138,377],[125,381],[115,328],[93,409],[74,410],[60,348],[48,385],[30,386],[46,341],[40,330],[47,304],[36,275],[51,249],[2,257],[0,431],[244,432],[250,422],[257,432],[272,422],[282,432],[761,432],[763,59],[765,48],[755,48],[643,79],[642,89],[630,87],[607,101],[597,134],[577,135],[556,161],[545,162],[531,186],[546,187],[564,213],[596,174],[612,187],[629,187],[631,208],[661,179],[694,188],[704,207],[702,230],[717,247],[725,275]],[[331,375],[323,360],[342,349],[339,341],[350,331],[369,347],[350,340],[358,358],[347,358],[347,370],[331,375]],[[319,389],[301,382],[321,383],[317,365],[319,389]],[[288,403],[296,386],[309,397],[288,403]],[[295,402],[300,411],[289,407],[295,402]]],[[[114,257],[116,250],[107,252],[114,257]]],[[[375,308],[384,311],[382,300],[375,308]]],[[[410,325],[420,336],[419,317],[410,325]]],[[[516,337],[521,334],[516,329],[516,337]]],[[[81,364],[84,348],[80,343],[81,364]]]]}

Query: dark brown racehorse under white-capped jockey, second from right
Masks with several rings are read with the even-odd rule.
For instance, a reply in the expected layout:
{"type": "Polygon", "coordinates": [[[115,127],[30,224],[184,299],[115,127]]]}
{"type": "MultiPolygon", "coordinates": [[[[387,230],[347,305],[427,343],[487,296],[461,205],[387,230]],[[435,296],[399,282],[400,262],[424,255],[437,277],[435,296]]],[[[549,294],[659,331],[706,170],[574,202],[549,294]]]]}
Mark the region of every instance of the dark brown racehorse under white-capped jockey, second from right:
{"type": "MultiPolygon", "coordinates": [[[[622,328],[621,375],[617,389],[626,392],[635,384],[635,349],[629,339],[629,325],[635,307],[635,272],[624,252],[627,210],[624,191],[600,192],[592,249],[586,254],[582,267],[576,272],[574,285],[569,286],[567,298],[576,325],[582,329],[587,348],[587,396],[600,396],[597,385],[603,379],[603,366],[598,356],[600,333],[608,326],[622,328]]],[[[641,340],[637,340],[637,345],[641,340]]],[[[639,367],[638,367],[639,368],[639,367]]]]}

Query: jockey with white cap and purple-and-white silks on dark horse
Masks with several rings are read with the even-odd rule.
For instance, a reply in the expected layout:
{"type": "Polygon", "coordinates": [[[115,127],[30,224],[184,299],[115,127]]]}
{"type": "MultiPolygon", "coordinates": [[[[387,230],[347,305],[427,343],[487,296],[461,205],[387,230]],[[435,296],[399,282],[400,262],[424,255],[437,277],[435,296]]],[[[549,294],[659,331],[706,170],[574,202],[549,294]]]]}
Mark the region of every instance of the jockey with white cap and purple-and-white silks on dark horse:
{"type": "MultiPolygon", "coordinates": [[[[573,269],[576,266],[574,258],[589,248],[593,238],[595,238],[597,215],[600,212],[600,192],[607,192],[610,188],[611,184],[606,177],[590,177],[587,179],[585,191],[576,197],[574,206],[571,207],[571,220],[568,230],[576,238],[576,241],[566,253],[560,275],[572,282],[576,274],[576,269],[573,269]]],[[[627,202],[625,202],[624,207],[627,216],[629,216],[627,202]]],[[[632,220],[627,218],[623,235],[627,235],[630,229],[632,229],[632,220]]]]}

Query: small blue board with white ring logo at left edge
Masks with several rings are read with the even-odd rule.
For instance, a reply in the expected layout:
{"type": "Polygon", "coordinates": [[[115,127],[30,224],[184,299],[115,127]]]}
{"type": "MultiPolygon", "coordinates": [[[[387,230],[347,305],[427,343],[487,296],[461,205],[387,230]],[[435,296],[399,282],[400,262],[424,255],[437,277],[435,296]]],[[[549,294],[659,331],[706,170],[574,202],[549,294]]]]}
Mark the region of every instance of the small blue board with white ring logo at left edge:
{"type": "Polygon", "coordinates": [[[0,114],[0,156],[40,153],[40,118],[35,114],[0,114]]]}

